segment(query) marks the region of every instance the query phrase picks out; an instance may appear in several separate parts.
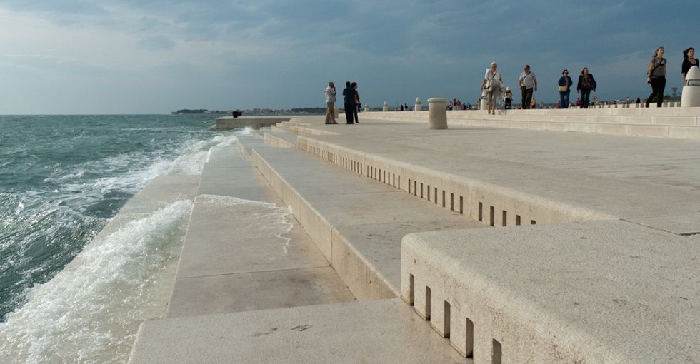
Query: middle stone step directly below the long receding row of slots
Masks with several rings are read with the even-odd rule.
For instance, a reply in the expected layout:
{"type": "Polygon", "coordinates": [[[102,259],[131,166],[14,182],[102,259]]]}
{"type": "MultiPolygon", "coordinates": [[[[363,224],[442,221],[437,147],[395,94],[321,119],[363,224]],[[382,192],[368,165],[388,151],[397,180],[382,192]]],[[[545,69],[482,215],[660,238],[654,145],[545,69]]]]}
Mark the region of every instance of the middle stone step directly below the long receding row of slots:
{"type": "Polygon", "coordinates": [[[368,181],[359,165],[353,172],[297,149],[253,149],[254,165],[360,300],[398,295],[406,233],[485,226],[368,181]]]}

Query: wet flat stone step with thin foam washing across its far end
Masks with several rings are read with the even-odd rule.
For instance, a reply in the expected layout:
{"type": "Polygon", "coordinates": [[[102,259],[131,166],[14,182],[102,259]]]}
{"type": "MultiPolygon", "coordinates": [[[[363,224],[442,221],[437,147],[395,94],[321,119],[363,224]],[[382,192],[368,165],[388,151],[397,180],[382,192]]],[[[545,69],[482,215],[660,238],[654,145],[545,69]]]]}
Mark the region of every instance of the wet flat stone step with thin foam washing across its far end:
{"type": "Polygon", "coordinates": [[[167,317],[354,299],[259,171],[241,158],[239,148],[211,148],[167,317]]]}

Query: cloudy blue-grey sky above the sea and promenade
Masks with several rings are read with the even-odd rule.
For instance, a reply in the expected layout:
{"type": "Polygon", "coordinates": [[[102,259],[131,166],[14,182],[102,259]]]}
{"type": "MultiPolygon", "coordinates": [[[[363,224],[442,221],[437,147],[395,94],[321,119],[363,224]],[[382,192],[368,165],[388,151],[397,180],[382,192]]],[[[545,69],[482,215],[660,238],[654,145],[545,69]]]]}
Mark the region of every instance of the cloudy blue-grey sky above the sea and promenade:
{"type": "Polygon", "coordinates": [[[538,101],[583,67],[592,96],[646,98],[657,46],[666,93],[681,87],[698,14],[696,0],[0,0],[0,114],[324,107],[328,81],[358,82],[372,107],[473,104],[491,61],[513,89],[531,65],[538,101]]]}

